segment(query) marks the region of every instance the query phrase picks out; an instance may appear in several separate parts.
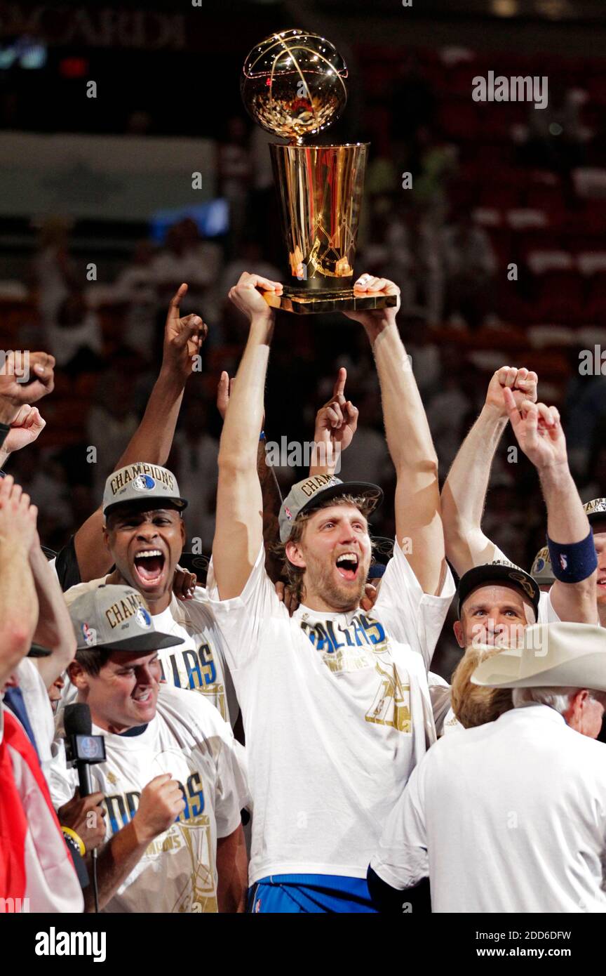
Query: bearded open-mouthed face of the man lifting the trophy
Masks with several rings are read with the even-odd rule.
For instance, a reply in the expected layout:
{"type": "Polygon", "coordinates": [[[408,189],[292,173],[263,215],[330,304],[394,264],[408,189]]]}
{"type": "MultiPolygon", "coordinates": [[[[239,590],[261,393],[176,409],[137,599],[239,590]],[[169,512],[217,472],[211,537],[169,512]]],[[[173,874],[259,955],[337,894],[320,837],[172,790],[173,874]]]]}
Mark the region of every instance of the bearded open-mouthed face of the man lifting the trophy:
{"type": "Polygon", "coordinates": [[[370,565],[368,523],[349,503],[314,511],[299,542],[288,541],[286,556],[305,570],[305,605],[343,612],[360,604],[370,565]]]}

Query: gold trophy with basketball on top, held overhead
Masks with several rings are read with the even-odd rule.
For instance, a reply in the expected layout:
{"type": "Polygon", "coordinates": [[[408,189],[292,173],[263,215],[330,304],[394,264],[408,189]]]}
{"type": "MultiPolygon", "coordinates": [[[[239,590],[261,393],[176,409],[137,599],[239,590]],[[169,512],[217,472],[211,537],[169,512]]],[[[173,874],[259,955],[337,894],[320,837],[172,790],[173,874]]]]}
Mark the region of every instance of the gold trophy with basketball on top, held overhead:
{"type": "Polygon", "coordinates": [[[345,62],[329,41],[283,30],[246,58],[242,98],[267,132],[290,140],[270,145],[280,195],[290,281],[282,295],[265,292],[285,311],[386,308],[396,295],[354,291],[354,257],[367,142],[305,145],[334,122],[347,102],[345,62]]]}

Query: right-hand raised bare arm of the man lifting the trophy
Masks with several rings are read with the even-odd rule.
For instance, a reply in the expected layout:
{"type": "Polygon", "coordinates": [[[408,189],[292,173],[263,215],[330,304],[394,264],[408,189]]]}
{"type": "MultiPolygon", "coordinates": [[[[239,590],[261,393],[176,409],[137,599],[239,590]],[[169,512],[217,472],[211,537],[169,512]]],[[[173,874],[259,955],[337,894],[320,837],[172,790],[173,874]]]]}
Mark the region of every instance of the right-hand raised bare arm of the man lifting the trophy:
{"type": "MultiPolygon", "coordinates": [[[[392,281],[370,275],[362,275],[356,288],[399,296],[392,281]]],[[[385,432],[397,476],[398,544],[424,592],[435,594],[446,566],[437,457],[421,395],[399,337],[398,307],[399,299],[394,308],[346,314],[363,325],[377,366],[385,432]]]]}

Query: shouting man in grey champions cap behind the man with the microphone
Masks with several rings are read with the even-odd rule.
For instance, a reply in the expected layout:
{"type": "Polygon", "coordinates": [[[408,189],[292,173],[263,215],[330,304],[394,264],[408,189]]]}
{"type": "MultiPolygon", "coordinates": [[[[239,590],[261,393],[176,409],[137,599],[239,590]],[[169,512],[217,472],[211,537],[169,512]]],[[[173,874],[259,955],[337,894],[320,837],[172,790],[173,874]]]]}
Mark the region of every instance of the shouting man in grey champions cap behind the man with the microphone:
{"type": "Polygon", "coordinates": [[[206,590],[197,587],[193,598],[185,601],[172,592],[174,569],[185,542],[186,506],[167,468],[139,462],[110,474],[103,493],[103,541],[115,569],[106,577],[72,587],[65,599],[70,605],[83,592],[104,583],[138,590],[156,629],[174,635],[179,644],[159,651],[165,680],[201,692],[233,723],[238,703],[206,590]]]}

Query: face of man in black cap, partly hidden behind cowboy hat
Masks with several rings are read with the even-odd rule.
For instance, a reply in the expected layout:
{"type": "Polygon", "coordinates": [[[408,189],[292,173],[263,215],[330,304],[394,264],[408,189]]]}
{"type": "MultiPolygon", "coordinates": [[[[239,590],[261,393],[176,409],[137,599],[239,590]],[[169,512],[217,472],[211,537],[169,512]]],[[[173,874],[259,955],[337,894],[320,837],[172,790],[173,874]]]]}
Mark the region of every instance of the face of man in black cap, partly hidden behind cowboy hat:
{"type": "Polygon", "coordinates": [[[460,647],[477,644],[509,646],[528,624],[535,623],[532,603],[514,587],[487,585],[469,594],[454,631],[460,647]]]}

